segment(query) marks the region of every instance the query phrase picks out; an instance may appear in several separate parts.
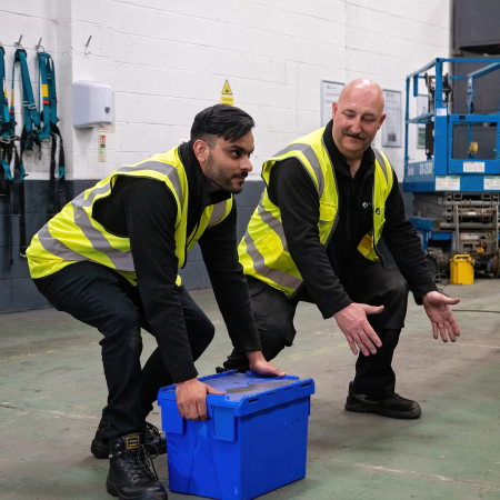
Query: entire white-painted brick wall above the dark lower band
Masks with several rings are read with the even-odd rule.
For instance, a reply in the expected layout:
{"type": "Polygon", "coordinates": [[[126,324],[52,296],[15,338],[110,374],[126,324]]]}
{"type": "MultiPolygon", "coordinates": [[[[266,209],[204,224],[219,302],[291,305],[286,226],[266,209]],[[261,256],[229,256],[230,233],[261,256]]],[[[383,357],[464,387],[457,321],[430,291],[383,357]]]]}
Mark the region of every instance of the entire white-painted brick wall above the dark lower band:
{"type": "MultiPolygon", "coordinates": [[[[321,79],[367,77],[404,97],[408,73],[449,54],[450,0],[3,0],[0,33],[8,72],[23,34],[36,91],[40,37],[56,61],[69,178],[99,179],[188,139],[227,79],[257,122],[259,176],[268,156],[320,127],[321,79]],[[71,126],[71,83],[83,79],[114,90],[103,163],[97,131],[71,126]]],[[[410,156],[420,158],[416,137],[410,156]]],[[[387,153],[402,178],[403,148],[387,153]]],[[[48,178],[48,157],[27,159],[31,179],[48,178]]]]}

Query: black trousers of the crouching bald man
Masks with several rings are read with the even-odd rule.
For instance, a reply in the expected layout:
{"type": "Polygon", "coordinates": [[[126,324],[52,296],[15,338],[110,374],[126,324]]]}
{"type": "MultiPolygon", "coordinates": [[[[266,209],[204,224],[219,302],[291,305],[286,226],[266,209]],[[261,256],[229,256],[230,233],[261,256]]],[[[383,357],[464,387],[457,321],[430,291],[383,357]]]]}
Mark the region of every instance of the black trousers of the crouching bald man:
{"type": "MultiPolygon", "coordinates": [[[[283,292],[263,281],[247,278],[262,352],[270,361],[284,347],[293,343],[297,306],[300,301],[311,300],[307,290],[300,291],[297,298],[287,299],[283,292]]],[[[397,268],[386,268],[363,258],[353,260],[339,273],[339,279],[352,301],[384,306],[382,313],[368,316],[370,324],[382,341],[382,347],[374,356],[359,354],[354,378],[354,387],[359,393],[370,399],[384,399],[394,393],[396,374],[391,363],[401,328],[404,327],[408,284],[397,268]]],[[[246,370],[247,362],[241,354],[232,352],[224,362],[224,368],[246,370]]]]}

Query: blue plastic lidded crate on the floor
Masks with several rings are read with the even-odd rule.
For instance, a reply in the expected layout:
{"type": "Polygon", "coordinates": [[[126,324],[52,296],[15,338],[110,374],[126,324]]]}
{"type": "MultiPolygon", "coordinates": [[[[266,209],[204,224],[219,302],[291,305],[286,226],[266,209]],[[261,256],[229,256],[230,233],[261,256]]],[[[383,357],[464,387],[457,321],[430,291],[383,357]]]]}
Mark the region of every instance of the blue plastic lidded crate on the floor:
{"type": "Polygon", "coordinates": [[[176,386],[158,393],[171,491],[250,500],[306,477],[312,379],[230,371],[199,380],[226,391],[208,396],[206,421],[179,414],[176,386]]]}

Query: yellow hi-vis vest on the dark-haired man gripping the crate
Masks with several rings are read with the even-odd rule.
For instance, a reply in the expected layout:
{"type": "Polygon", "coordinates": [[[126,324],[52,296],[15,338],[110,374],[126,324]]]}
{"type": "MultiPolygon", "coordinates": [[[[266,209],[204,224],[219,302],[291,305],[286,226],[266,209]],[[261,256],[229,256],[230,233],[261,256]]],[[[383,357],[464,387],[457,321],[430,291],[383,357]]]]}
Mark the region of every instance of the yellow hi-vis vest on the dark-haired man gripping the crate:
{"type": "MultiPolygon", "coordinates": [[[[112,234],[92,217],[94,203],[110,196],[118,176],[156,179],[164,182],[172,192],[178,207],[174,239],[179,268],[184,266],[187,252],[204,230],[226,219],[232,208],[232,196],[228,200],[206,207],[200,222],[188,238],[188,179],[178,148],[173,148],[134,166],[120,167],[93,188],[74,198],[43,226],[27,251],[31,278],[44,278],[66,266],[88,260],[116,270],[136,284],[130,239],[112,234]]],[[[151,234],[151,238],[154,238],[154,234],[151,234]]],[[[177,277],[177,284],[180,283],[180,277],[177,277]]]]}

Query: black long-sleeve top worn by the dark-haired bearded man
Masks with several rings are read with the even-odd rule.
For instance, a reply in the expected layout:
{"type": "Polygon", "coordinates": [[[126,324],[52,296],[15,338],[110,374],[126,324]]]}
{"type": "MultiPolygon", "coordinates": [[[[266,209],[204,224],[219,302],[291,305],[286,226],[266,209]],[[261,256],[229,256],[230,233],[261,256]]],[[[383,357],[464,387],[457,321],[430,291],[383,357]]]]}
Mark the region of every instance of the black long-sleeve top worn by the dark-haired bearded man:
{"type": "MultiPolygon", "coordinates": [[[[203,209],[229,199],[226,191],[208,192],[207,181],[190,142],[179,147],[188,186],[188,237],[203,209]]],[[[243,188],[244,189],[244,188],[243,188]]],[[[153,179],[121,176],[108,198],[96,202],[92,217],[108,231],[130,239],[137,286],[146,317],[174,382],[197,377],[176,279],[174,226],[177,203],[164,184],[153,179]]],[[[237,252],[237,207],[199,240],[219,309],[234,348],[261,350],[250,309],[248,286],[237,252]]]]}

